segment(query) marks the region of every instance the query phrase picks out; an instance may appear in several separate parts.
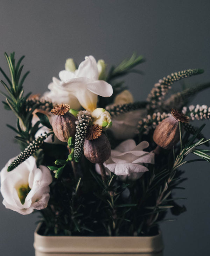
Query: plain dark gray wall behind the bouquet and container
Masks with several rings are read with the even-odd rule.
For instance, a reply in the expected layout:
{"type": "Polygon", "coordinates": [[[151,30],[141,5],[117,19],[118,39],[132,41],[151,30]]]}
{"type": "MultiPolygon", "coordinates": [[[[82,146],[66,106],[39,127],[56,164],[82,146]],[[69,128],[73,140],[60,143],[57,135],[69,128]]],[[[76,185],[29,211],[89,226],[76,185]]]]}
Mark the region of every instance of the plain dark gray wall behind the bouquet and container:
{"type": "MultiPolygon", "coordinates": [[[[135,100],[144,100],[153,84],[173,71],[204,68],[203,75],[190,78],[192,85],[210,81],[210,1],[155,0],[36,0],[0,2],[0,66],[6,69],[3,52],[26,55],[26,92],[44,92],[52,76],[64,68],[65,59],[80,63],[84,56],[103,58],[118,64],[133,51],[147,62],[140,68],[144,76],[130,75],[127,85],[135,100]]],[[[2,76],[1,76],[2,79],[2,76]]],[[[174,90],[180,88],[174,85],[174,90]]],[[[209,92],[198,95],[194,103],[209,104],[209,92]]],[[[3,100],[3,97],[1,97],[3,100]]],[[[0,168],[19,153],[14,133],[5,124],[14,124],[14,115],[0,108],[0,168]]],[[[200,124],[203,122],[200,122],[200,124]]],[[[210,125],[204,129],[207,137],[210,125]]],[[[165,255],[207,255],[209,251],[209,164],[185,166],[188,211],[177,222],[161,225],[165,255]]],[[[0,196],[0,200],[1,200],[0,196]]],[[[180,202],[182,203],[182,202],[180,202]]],[[[170,218],[170,215],[168,216],[170,218]]],[[[36,215],[21,216],[0,204],[0,254],[34,255],[33,232],[36,215]]]]}

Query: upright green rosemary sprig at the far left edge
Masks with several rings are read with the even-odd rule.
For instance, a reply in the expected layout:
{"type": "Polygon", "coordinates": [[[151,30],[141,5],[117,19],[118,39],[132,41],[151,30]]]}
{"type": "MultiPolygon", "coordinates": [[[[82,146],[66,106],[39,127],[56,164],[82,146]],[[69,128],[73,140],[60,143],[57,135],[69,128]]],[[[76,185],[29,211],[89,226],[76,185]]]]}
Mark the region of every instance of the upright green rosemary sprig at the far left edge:
{"type": "MultiPolygon", "coordinates": [[[[36,102],[28,100],[30,93],[24,96],[23,82],[29,74],[28,71],[22,75],[23,65],[21,65],[21,62],[25,56],[22,56],[18,60],[17,64],[15,64],[14,52],[11,53],[10,56],[5,52],[5,57],[8,63],[11,79],[0,68],[1,73],[7,82],[6,84],[1,80],[3,87],[7,91],[7,94],[1,91],[1,94],[6,97],[6,101],[3,101],[3,104],[6,109],[12,110],[18,119],[16,128],[9,124],[7,126],[17,134],[15,139],[20,142],[21,148],[25,148],[34,140],[34,135],[39,129],[39,123],[36,123],[34,127],[32,127],[31,120],[33,117],[33,111],[42,103],[40,102],[39,105],[37,105],[36,102]]],[[[46,104],[46,102],[44,103],[46,104]]]]}

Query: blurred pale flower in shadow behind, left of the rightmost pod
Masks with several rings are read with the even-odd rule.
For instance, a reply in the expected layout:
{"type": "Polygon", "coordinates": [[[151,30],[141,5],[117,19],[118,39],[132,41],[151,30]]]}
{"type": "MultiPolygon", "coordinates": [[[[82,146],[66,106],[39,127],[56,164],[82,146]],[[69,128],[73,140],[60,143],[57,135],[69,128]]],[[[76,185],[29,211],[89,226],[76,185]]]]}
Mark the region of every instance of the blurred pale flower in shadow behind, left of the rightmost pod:
{"type": "Polygon", "coordinates": [[[145,109],[133,110],[112,117],[112,131],[118,140],[131,139],[137,134],[137,126],[140,119],[146,116],[145,109]]]}

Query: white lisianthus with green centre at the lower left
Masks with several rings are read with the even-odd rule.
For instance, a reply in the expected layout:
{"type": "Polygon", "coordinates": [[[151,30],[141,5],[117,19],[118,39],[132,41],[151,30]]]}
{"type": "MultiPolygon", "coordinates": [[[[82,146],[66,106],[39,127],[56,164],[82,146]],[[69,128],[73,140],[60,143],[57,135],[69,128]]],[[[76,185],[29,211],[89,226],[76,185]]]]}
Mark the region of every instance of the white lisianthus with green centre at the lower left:
{"type": "Polygon", "coordinates": [[[52,182],[49,169],[45,166],[37,168],[35,158],[30,156],[13,171],[7,172],[13,160],[10,159],[0,172],[3,205],[23,215],[47,207],[52,182]]]}

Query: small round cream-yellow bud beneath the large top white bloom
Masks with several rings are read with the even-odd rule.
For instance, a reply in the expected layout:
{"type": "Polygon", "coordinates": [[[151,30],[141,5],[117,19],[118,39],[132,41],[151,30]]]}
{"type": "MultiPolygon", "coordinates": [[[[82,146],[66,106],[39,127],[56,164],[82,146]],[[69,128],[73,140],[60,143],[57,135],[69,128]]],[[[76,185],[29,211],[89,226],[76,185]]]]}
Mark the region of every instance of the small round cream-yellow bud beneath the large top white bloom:
{"type": "Polygon", "coordinates": [[[103,130],[112,126],[111,116],[104,108],[96,108],[91,113],[93,124],[102,126],[103,130]]]}

